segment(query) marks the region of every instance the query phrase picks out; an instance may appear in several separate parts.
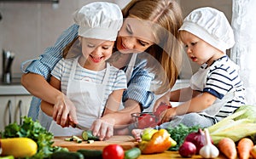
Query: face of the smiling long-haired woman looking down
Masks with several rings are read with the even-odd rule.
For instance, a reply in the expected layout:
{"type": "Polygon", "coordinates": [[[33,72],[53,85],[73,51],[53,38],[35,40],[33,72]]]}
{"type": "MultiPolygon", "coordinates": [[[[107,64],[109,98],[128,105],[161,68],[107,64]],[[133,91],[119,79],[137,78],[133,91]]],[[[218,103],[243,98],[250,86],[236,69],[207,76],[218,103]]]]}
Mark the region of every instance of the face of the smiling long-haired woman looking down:
{"type": "Polygon", "coordinates": [[[123,54],[141,53],[154,44],[154,35],[148,23],[137,18],[125,18],[119,31],[116,47],[123,54]]]}

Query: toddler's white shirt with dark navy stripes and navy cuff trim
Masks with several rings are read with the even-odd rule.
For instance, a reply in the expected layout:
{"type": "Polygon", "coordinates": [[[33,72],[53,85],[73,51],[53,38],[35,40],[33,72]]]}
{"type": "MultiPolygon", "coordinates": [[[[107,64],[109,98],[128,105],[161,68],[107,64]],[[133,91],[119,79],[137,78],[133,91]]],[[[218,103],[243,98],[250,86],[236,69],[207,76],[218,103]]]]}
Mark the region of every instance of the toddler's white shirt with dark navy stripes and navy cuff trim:
{"type": "MultiPolygon", "coordinates": [[[[206,83],[203,85],[202,92],[207,92],[214,95],[218,99],[223,99],[231,89],[235,90],[235,97],[227,101],[218,114],[215,116],[218,120],[226,116],[230,116],[241,105],[245,105],[245,88],[239,77],[239,67],[230,58],[224,57],[214,61],[209,66],[206,83]]],[[[207,69],[207,66],[201,66],[200,70],[207,69]]]]}

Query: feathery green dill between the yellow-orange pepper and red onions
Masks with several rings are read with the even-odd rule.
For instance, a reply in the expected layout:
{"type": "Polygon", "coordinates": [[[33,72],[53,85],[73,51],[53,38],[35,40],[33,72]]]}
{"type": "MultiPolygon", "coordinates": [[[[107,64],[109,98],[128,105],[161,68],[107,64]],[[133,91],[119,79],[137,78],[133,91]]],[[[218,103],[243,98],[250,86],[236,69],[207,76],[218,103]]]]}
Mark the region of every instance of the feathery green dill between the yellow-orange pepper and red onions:
{"type": "Polygon", "coordinates": [[[169,150],[178,150],[178,148],[183,144],[183,141],[185,137],[192,132],[197,132],[199,126],[194,126],[194,127],[187,127],[183,124],[179,124],[175,128],[166,128],[168,133],[171,134],[171,138],[174,139],[177,142],[177,145],[174,147],[169,148],[169,150]]]}

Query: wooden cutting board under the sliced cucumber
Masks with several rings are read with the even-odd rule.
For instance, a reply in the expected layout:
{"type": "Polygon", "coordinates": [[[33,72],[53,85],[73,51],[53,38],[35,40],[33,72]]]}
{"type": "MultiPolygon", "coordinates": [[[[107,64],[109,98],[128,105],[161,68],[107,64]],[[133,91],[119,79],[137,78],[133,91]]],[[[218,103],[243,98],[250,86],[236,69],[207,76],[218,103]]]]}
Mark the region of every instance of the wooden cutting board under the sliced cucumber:
{"type": "Polygon", "coordinates": [[[82,143],[77,143],[76,141],[65,141],[66,138],[68,137],[55,137],[53,139],[53,145],[66,147],[70,151],[76,151],[79,149],[102,150],[106,145],[111,144],[118,144],[121,145],[124,150],[129,150],[138,144],[137,141],[129,135],[115,135],[108,140],[94,141],[91,144],[88,144],[87,141],[82,141],[82,143]]]}

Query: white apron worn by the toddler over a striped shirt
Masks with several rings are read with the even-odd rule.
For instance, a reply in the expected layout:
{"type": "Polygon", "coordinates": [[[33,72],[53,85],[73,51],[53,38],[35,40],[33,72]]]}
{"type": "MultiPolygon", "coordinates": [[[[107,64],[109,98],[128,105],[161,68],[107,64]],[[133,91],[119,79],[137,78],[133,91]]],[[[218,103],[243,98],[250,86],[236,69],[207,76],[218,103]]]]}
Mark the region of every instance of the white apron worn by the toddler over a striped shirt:
{"type": "MultiPolygon", "coordinates": [[[[200,90],[203,91],[203,88],[205,88],[205,85],[207,83],[207,74],[210,70],[210,67],[207,69],[200,69],[197,71],[190,80],[190,87],[194,90],[200,90]]],[[[216,99],[215,102],[209,106],[206,110],[200,112],[200,114],[205,116],[216,116],[218,114],[218,111],[231,99],[235,97],[236,91],[235,89],[231,89],[230,92],[224,95],[223,99],[216,99]]]]}

